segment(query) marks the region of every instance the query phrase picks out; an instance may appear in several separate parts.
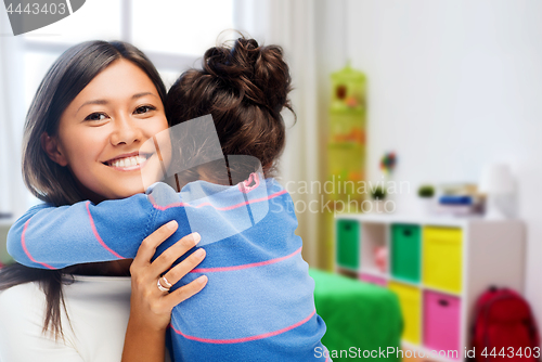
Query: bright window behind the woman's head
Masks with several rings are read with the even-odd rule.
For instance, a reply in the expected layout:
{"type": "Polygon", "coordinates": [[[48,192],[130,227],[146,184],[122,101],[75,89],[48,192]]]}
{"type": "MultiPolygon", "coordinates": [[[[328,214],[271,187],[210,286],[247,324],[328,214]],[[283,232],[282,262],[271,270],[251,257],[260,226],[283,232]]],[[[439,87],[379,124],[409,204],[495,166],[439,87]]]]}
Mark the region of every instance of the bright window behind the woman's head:
{"type": "MultiPolygon", "coordinates": [[[[169,88],[183,70],[198,66],[206,49],[231,38],[233,8],[234,0],[86,1],[62,21],[20,36],[25,113],[51,64],[63,51],[87,40],[133,43],[151,59],[169,88]]],[[[23,122],[14,126],[22,129],[23,122]]],[[[29,196],[29,204],[35,203],[29,196]]]]}

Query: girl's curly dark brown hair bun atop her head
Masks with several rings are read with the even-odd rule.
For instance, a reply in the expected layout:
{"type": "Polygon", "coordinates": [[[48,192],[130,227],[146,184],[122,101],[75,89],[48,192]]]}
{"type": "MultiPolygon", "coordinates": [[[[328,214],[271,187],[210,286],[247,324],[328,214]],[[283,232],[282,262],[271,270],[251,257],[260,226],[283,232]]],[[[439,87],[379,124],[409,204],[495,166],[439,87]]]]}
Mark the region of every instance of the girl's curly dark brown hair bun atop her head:
{"type": "Polygon", "coordinates": [[[204,70],[238,91],[242,99],[280,113],[292,108],[292,78],[283,56],[281,47],[260,47],[254,39],[240,38],[231,47],[207,50],[203,64],[204,70]]]}

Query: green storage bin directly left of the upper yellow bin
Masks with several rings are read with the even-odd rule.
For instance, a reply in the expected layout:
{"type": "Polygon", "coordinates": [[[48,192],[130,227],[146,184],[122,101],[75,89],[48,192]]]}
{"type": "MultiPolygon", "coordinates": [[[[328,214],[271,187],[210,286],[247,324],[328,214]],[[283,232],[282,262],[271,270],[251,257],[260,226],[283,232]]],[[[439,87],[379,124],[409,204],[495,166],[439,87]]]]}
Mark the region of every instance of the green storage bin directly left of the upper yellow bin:
{"type": "Polygon", "coordinates": [[[391,275],[412,283],[421,280],[422,232],[420,225],[391,225],[391,275]]]}

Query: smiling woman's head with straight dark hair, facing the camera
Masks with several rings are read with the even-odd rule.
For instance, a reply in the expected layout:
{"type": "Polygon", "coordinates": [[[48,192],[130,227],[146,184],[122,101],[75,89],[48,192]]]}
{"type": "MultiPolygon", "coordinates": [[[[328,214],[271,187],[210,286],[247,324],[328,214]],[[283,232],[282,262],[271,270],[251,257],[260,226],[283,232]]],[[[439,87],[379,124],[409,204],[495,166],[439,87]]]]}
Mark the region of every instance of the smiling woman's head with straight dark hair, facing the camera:
{"type": "Polygon", "coordinates": [[[144,160],[137,155],[145,140],[168,127],[165,98],[157,70],[133,46],[90,41],[68,49],[28,111],[26,185],[55,205],[142,192],[144,160]]]}

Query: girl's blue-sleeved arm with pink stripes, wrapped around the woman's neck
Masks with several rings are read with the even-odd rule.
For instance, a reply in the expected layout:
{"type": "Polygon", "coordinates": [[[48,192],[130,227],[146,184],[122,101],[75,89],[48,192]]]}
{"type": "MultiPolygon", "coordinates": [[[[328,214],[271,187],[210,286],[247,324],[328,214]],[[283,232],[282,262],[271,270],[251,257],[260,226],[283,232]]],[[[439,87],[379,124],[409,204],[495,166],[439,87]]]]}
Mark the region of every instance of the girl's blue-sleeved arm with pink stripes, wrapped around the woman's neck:
{"type": "Polygon", "coordinates": [[[151,232],[155,209],[145,194],[98,205],[50,204],[30,208],[10,229],[8,253],[31,268],[68,266],[133,258],[151,232]]]}

